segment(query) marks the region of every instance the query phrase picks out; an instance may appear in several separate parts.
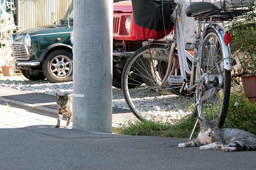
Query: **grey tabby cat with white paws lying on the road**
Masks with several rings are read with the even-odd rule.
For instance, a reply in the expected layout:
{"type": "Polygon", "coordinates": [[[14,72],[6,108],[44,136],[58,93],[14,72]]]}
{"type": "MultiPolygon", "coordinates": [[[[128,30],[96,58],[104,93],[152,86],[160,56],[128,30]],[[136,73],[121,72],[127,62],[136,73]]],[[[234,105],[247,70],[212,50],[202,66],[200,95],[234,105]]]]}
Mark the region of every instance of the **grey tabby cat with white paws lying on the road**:
{"type": "Polygon", "coordinates": [[[193,141],[179,144],[178,147],[200,146],[200,150],[256,151],[256,136],[239,129],[219,129],[219,119],[199,118],[200,133],[193,141]]]}

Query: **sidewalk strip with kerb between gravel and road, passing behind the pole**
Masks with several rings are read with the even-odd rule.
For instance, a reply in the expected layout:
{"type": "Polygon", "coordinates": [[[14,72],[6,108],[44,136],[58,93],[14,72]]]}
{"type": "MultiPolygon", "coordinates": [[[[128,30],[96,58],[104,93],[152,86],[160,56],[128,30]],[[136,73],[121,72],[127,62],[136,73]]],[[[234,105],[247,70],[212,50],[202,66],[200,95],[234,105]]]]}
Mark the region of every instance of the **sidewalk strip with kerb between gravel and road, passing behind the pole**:
{"type": "MultiPolygon", "coordinates": [[[[0,102],[7,102],[10,106],[36,111],[39,114],[54,118],[57,115],[55,96],[50,94],[35,93],[0,86],[0,102]]],[[[119,127],[120,124],[128,119],[136,119],[130,110],[113,107],[112,111],[113,127],[119,127]]],[[[64,119],[66,119],[66,115],[64,115],[64,119]]]]}

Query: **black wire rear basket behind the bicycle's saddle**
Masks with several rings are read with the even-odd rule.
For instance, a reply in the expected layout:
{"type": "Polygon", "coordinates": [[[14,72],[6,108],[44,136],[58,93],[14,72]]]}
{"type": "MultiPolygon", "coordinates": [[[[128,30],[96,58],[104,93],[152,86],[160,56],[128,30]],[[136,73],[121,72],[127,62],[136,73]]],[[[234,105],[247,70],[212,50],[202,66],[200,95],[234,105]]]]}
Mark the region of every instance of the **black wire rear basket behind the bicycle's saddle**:
{"type": "Polygon", "coordinates": [[[190,0],[192,17],[229,20],[252,11],[255,0],[190,0]]]}

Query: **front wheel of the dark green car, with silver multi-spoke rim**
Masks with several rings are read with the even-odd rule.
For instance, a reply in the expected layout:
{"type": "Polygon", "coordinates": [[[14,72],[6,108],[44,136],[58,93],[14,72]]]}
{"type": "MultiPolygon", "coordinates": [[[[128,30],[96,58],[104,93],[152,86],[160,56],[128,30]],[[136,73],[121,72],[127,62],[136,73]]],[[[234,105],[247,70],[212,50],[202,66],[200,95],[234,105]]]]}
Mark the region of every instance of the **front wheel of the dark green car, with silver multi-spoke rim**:
{"type": "Polygon", "coordinates": [[[43,73],[53,83],[68,82],[73,79],[73,54],[66,50],[49,53],[43,62],[43,73]]]}

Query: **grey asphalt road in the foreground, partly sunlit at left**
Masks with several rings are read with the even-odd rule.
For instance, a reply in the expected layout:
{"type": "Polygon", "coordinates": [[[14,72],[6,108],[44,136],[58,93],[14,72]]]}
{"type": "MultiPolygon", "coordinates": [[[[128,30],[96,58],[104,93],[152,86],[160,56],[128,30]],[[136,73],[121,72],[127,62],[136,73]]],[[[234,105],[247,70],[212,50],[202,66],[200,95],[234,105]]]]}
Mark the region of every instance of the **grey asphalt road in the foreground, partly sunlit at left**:
{"type": "MultiPolygon", "coordinates": [[[[55,118],[0,104],[0,170],[253,170],[255,152],[178,148],[188,139],[54,128],[55,118]]],[[[64,126],[65,121],[62,122],[64,126]]]]}

